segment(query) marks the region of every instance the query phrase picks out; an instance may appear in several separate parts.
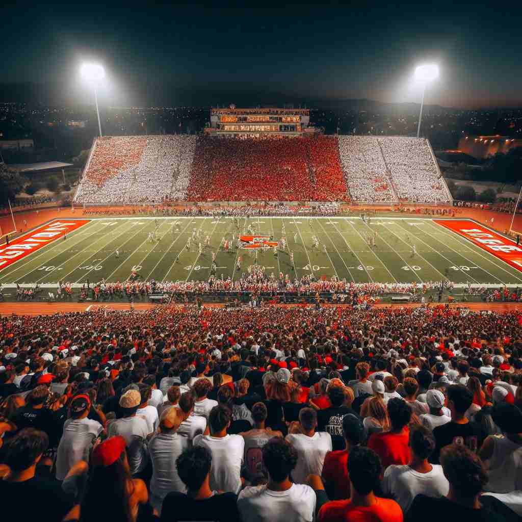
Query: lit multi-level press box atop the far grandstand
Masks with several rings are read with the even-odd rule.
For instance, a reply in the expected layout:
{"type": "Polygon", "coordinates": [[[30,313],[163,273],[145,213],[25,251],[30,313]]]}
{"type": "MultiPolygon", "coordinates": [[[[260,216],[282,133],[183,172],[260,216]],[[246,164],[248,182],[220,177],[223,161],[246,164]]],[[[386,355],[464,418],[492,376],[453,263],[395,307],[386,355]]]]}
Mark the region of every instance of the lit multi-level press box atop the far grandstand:
{"type": "Polygon", "coordinates": [[[261,138],[303,136],[316,132],[310,126],[310,109],[211,109],[205,134],[216,137],[261,138]]]}

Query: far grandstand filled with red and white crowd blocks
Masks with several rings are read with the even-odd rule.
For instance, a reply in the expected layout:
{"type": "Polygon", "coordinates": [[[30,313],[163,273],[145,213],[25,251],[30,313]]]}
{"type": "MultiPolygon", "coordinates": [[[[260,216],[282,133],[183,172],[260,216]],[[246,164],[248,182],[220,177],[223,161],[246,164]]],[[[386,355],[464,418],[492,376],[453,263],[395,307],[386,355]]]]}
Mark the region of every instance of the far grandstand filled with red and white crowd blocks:
{"type": "Polygon", "coordinates": [[[451,197],[425,139],[322,136],[98,139],[76,203],[401,201],[451,197]]]}

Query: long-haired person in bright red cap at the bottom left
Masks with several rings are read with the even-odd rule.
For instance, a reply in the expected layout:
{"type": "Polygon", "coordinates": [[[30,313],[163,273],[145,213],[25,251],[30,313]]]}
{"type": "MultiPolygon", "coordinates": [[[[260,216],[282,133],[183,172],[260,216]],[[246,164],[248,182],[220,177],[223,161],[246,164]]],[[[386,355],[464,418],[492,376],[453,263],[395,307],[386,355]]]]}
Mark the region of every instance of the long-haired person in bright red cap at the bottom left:
{"type": "Polygon", "coordinates": [[[90,480],[80,506],[81,520],[129,520],[135,522],[141,505],[147,504],[147,486],[133,479],[127,460],[126,441],[110,437],[94,448],[90,480]],[[102,509],[102,511],[100,511],[102,509]]]}

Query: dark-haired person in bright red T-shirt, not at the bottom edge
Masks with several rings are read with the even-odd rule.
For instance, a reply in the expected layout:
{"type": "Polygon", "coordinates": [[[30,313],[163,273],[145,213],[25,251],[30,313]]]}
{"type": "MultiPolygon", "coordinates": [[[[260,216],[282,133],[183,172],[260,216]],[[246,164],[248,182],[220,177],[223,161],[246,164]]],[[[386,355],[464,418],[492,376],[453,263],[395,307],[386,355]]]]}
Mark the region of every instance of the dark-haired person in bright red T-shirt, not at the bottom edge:
{"type": "Polygon", "coordinates": [[[411,458],[408,445],[411,408],[406,401],[393,398],[388,401],[388,415],[392,429],[374,433],[368,441],[368,447],[381,457],[383,471],[390,464],[408,464],[411,458]]]}

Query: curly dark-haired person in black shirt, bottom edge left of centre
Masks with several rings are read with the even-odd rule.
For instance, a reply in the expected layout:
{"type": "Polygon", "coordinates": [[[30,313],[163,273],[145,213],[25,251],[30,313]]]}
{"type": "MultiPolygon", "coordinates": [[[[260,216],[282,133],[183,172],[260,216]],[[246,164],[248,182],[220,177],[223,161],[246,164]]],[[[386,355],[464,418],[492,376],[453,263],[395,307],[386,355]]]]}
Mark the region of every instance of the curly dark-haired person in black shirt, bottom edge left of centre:
{"type": "Polygon", "coordinates": [[[203,446],[186,449],[176,459],[176,469],[187,493],[170,492],[161,507],[162,522],[212,520],[239,522],[238,496],[210,489],[212,455],[203,446]]]}

